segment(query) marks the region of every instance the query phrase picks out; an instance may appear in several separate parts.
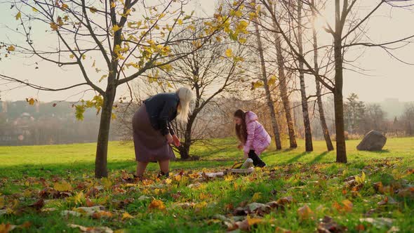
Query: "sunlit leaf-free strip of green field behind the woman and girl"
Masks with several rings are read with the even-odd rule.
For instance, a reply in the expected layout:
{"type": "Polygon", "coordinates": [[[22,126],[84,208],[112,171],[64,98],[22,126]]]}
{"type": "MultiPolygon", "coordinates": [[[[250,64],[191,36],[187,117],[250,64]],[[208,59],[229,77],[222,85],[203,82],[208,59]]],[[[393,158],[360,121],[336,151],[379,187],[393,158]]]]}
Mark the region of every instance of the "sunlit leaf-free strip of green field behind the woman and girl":
{"type": "MultiPolygon", "coordinates": [[[[414,154],[414,138],[390,138],[382,152],[359,152],[356,150],[358,143],[359,140],[347,141],[350,163],[363,162],[368,158],[410,157],[414,154]]],[[[304,144],[299,141],[298,149],[283,149],[280,152],[274,152],[274,145],[272,145],[262,158],[269,165],[290,164],[296,161],[311,164],[335,161],[335,152],[326,152],[323,141],[315,141],[314,152],[311,153],[304,152],[304,144]]],[[[171,169],[231,166],[234,161],[241,160],[243,157],[243,152],[236,149],[236,145],[233,139],[212,140],[208,145],[196,145],[192,147],[191,154],[199,156],[203,162],[173,161],[171,169]]],[[[69,171],[93,175],[95,144],[0,147],[0,159],[0,176],[7,173],[8,176],[18,178],[21,175],[65,174],[69,171]]],[[[134,171],[133,144],[110,142],[108,167],[109,170],[134,171]]],[[[149,165],[149,170],[155,169],[157,169],[156,164],[149,165]]]]}

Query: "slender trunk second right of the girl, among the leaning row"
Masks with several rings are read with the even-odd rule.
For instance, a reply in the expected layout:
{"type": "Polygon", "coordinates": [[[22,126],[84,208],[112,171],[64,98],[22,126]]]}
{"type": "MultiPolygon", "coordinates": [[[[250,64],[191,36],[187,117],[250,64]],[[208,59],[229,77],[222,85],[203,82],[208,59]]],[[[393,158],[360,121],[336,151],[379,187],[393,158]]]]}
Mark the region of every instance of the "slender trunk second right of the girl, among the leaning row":
{"type": "MultiPolygon", "coordinates": [[[[277,27],[274,26],[276,29],[277,27]]],[[[291,112],[291,102],[288,98],[288,91],[286,85],[286,75],[285,75],[285,64],[283,61],[282,48],[281,48],[281,39],[279,35],[276,34],[276,58],[277,66],[279,72],[279,87],[281,93],[281,99],[283,102],[283,108],[285,109],[286,115],[286,124],[288,124],[288,134],[289,134],[289,144],[291,148],[298,147],[295,136],[295,128],[293,126],[292,112],[291,112]]]]}

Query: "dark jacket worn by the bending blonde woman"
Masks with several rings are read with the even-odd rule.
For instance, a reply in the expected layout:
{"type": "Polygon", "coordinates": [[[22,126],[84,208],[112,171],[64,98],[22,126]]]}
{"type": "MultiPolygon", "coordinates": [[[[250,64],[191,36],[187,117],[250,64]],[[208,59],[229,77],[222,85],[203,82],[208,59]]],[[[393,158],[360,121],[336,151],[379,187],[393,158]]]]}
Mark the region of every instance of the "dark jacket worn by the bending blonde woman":
{"type": "Polygon", "coordinates": [[[162,135],[174,135],[170,122],[177,116],[179,102],[176,93],[159,93],[144,100],[152,127],[161,131],[162,135]]]}

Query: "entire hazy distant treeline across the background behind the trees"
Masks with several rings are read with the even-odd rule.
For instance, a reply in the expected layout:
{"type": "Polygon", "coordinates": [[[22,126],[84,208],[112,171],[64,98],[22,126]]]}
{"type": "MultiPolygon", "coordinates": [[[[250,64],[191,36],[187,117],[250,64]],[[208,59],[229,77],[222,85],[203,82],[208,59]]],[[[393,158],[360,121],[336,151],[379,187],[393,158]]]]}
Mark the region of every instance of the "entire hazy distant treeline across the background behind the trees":
{"type": "MultiPolygon", "coordinates": [[[[394,107],[397,102],[394,102],[394,107]]],[[[276,102],[276,114],[283,126],[286,122],[283,122],[283,109],[279,105],[280,103],[276,102]]],[[[299,138],[304,138],[305,129],[302,124],[300,102],[293,102],[292,105],[295,132],[299,138]]],[[[326,100],[325,105],[328,128],[333,132],[333,140],[335,140],[333,102],[326,100]]],[[[394,111],[385,111],[389,109],[387,105],[384,102],[379,104],[362,102],[359,101],[358,95],[349,95],[344,106],[346,137],[348,139],[361,138],[370,130],[380,131],[390,137],[413,136],[414,103],[399,102],[401,105],[399,116],[395,116],[394,111]]],[[[110,133],[110,140],[131,139],[131,118],[137,108],[136,104],[128,105],[128,111],[125,112],[123,107],[119,107],[110,133]]],[[[267,117],[269,112],[265,103],[255,100],[221,98],[211,102],[197,117],[196,124],[193,126],[194,132],[192,132],[194,140],[234,136],[232,114],[237,108],[255,111],[267,130],[271,131],[271,122],[267,117]]],[[[323,140],[317,109],[309,109],[309,114],[312,116],[311,124],[314,129],[312,137],[316,140],[323,140]]],[[[97,115],[94,109],[88,109],[84,117],[83,121],[76,120],[72,102],[58,102],[53,107],[53,102],[29,105],[26,101],[0,101],[0,145],[96,142],[99,114],[97,115]]],[[[182,133],[180,129],[178,133],[182,133]]],[[[281,127],[281,135],[282,138],[287,138],[284,127],[281,127]]]]}

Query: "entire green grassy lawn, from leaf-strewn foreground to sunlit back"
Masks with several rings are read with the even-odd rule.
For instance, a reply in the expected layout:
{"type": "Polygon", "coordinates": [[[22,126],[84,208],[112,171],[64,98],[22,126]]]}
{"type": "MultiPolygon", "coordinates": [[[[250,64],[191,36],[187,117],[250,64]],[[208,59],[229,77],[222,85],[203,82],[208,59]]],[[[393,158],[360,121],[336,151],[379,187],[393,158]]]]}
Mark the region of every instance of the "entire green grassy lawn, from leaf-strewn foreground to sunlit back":
{"type": "Polygon", "coordinates": [[[241,160],[232,139],[213,140],[192,149],[201,161],[174,161],[170,179],[154,179],[150,164],[145,182],[130,175],[128,143],[110,143],[102,180],[94,144],[0,147],[0,232],[8,223],[13,232],[414,232],[414,138],[391,138],[382,152],[359,152],[358,142],[347,142],[346,165],[318,141],[312,153],[269,149],[267,168],[252,175],[200,178],[241,160]]]}

